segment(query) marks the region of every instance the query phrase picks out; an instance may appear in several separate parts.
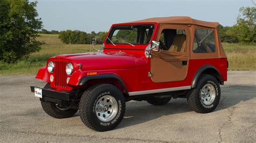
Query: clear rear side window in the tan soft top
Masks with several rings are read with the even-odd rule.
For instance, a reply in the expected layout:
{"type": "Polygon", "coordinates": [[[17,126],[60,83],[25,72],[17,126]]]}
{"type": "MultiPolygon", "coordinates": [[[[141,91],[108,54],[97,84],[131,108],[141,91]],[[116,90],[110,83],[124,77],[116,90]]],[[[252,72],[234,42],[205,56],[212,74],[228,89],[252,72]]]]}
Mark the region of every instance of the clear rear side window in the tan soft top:
{"type": "Polygon", "coordinates": [[[196,28],[194,32],[194,53],[213,53],[216,51],[214,31],[196,28]]]}

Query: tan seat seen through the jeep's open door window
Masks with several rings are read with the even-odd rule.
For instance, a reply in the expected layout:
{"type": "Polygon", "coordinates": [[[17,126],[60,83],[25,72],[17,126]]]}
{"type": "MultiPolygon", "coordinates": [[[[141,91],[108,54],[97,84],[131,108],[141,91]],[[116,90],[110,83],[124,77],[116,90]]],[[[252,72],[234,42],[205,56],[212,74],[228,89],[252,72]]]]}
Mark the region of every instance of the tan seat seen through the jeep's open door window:
{"type": "Polygon", "coordinates": [[[173,38],[173,42],[168,51],[172,52],[185,52],[186,48],[186,35],[177,34],[173,38]]]}

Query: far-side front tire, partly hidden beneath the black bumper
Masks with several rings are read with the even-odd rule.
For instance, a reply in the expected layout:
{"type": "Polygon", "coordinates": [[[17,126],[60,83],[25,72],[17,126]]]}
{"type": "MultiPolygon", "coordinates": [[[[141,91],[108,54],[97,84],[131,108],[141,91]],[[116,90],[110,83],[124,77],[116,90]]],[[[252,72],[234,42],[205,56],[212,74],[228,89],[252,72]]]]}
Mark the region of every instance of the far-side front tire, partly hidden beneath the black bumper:
{"type": "Polygon", "coordinates": [[[62,118],[69,118],[75,115],[77,112],[77,109],[66,109],[66,110],[59,110],[56,107],[55,103],[52,102],[46,102],[41,100],[41,105],[45,113],[47,113],[49,116],[57,119],[62,118]]]}

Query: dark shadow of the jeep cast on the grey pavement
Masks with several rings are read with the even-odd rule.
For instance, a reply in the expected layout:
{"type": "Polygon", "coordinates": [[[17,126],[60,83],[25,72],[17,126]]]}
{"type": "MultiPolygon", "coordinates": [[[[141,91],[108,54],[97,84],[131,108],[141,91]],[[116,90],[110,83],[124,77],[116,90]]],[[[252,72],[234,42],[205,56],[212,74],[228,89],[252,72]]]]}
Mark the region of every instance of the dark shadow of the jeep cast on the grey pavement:
{"type": "MultiPolygon", "coordinates": [[[[256,97],[256,87],[239,85],[222,86],[220,104],[214,112],[230,108],[240,102],[248,101],[256,97]]],[[[171,99],[163,106],[151,105],[143,102],[127,102],[125,117],[117,128],[133,126],[145,123],[162,116],[175,115],[179,113],[192,112],[186,99],[171,99]]],[[[196,112],[195,112],[196,113],[196,112]]],[[[202,114],[203,116],[203,114],[202,114]]]]}

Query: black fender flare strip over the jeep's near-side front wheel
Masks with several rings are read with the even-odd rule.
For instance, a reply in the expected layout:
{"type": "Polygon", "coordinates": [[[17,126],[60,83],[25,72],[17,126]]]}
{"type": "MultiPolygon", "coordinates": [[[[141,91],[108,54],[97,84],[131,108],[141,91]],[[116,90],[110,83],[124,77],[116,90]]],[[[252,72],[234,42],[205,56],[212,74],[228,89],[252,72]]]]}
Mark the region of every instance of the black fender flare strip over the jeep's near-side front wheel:
{"type": "Polygon", "coordinates": [[[90,81],[90,80],[102,80],[102,79],[107,79],[107,78],[113,78],[113,79],[119,81],[122,84],[126,94],[128,93],[123,80],[119,76],[114,75],[114,74],[100,74],[100,75],[83,76],[80,79],[80,81],[78,82],[78,85],[84,85],[87,81],[90,81]]]}

